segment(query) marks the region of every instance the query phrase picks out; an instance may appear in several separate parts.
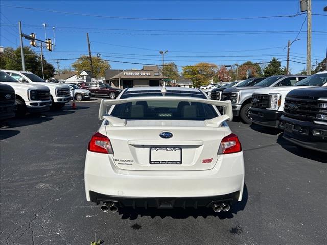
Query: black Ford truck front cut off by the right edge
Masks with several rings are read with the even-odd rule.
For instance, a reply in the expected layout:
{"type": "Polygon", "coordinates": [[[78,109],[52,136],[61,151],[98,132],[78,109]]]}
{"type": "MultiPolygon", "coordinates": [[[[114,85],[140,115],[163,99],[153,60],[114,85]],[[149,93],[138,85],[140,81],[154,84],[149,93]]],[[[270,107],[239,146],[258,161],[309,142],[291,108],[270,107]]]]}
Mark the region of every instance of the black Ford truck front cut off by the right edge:
{"type": "Polygon", "coordinates": [[[290,91],[279,128],[284,129],[284,139],[327,153],[327,87],[290,91]]]}

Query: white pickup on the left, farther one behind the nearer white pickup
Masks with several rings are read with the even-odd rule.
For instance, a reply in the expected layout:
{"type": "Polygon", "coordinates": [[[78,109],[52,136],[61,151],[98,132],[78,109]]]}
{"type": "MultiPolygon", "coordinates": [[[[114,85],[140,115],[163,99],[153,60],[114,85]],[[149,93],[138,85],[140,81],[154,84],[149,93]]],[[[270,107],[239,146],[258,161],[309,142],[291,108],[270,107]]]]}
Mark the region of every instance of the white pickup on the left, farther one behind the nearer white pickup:
{"type": "Polygon", "coordinates": [[[44,85],[50,89],[53,107],[62,108],[71,101],[71,90],[69,86],[58,83],[47,83],[42,78],[29,71],[3,70],[21,83],[32,83],[44,85]]]}

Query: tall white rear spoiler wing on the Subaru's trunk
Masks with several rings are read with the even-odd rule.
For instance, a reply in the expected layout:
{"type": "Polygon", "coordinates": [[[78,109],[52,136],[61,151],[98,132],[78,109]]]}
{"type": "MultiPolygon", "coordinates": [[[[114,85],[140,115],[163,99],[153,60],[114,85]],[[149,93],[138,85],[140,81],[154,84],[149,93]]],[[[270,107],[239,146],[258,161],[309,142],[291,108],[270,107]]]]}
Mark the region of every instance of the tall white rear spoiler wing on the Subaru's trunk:
{"type": "Polygon", "coordinates": [[[213,106],[224,107],[224,115],[204,121],[205,125],[208,127],[220,127],[222,122],[224,122],[225,120],[231,121],[233,119],[233,110],[230,101],[216,101],[216,100],[207,100],[207,99],[199,99],[199,98],[192,98],[192,97],[152,96],[152,97],[131,97],[127,99],[116,99],[116,100],[102,99],[99,108],[99,120],[106,119],[109,121],[109,125],[111,124],[112,126],[123,126],[126,124],[126,120],[108,115],[107,106],[119,105],[128,102],[158,101],[158,100],[199,102],[199,103],[209,104],[213,106]]]}

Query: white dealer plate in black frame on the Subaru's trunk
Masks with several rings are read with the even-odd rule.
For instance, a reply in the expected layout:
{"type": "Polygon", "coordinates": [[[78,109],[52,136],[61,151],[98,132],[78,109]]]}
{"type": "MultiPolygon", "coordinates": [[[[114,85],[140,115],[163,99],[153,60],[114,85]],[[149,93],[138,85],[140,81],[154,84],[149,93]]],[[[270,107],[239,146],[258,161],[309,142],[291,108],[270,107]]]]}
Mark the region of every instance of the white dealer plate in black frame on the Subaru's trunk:
{"type": "Polygon", "coordinates": [[[150,147],[150,164],[182,164],[180,147],[150,147]]]}

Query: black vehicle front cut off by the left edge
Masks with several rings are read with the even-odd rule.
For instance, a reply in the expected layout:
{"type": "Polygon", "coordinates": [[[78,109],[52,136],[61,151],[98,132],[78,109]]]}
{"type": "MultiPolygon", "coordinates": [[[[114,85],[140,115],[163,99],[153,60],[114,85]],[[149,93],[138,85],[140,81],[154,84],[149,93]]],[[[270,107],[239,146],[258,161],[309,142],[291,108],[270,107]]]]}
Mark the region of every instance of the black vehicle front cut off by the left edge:
{"type": "Polygon", "coordinates": [[[0,120],[15,116],[17,110],[15,99],[15,90],[7,84],[0,83],[0,120]]]}

